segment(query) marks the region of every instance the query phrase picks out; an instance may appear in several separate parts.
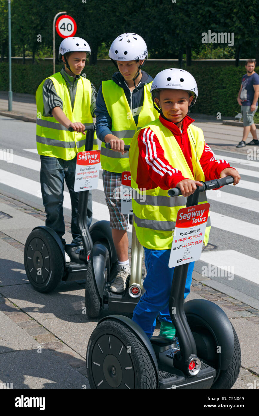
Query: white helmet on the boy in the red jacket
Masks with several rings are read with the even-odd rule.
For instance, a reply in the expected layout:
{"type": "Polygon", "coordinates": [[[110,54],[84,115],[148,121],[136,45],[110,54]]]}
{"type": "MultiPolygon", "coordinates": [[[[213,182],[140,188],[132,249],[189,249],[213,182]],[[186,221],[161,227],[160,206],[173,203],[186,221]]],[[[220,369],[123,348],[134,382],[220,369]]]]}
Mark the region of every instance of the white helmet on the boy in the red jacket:
{"type": "Polygon", "coordinates": [[[155,76],[150,89],[153,101],[155,99],[155,90],[158,89],[183,89],[184,91],[190,92],[194,97],[191,106],[195,104],[198,97],[196,81],[192,74],[184,69],[164,69],[155,76]]]}

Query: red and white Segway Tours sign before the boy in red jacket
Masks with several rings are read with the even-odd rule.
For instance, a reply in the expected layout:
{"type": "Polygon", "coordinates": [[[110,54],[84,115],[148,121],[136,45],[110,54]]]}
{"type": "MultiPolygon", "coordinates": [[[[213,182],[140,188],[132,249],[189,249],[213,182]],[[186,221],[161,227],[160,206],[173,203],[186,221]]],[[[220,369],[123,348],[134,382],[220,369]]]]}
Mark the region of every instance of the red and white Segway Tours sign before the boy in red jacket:
{"type": "Polygon", "coordinates": [[[169,267],[200,258],[210,204],[182,208],[177,213],[169,267]]]}

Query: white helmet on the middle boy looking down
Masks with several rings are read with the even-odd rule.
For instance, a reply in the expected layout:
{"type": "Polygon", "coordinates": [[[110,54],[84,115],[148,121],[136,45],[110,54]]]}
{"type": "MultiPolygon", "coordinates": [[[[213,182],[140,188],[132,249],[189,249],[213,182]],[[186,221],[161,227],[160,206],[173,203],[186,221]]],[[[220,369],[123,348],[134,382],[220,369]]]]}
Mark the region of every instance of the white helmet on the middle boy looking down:
{"type": "Polygon", "coordinates": [[[133,61],[146,59],[148,48],[144,39],[136,33],[123,33],[113,40],[109,57],[114,61],[133,61]]]}

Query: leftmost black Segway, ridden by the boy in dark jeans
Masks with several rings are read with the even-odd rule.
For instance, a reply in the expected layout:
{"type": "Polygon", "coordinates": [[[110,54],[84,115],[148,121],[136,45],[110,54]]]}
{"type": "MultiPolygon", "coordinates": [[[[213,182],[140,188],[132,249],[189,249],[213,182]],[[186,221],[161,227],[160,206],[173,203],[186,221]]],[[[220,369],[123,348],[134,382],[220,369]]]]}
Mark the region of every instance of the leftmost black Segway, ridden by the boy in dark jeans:
{"type": "MultiPolygon", "coordinates": [[[[86,126],[85,150],[93,148],[94,124],[86,126]]],[[[74,131],[71,127],[69,131],[74,131]]],[[[84,280],[87,270],[105,280],[117,261],[109,221],[99,221],[88,230],[86,223],[89,191],[79,193],[77,226],[83,245],[66,244],[70,262],[65,261],[62,242],[49,227],[35,227],[28,236],[24,249],[24,264],[27,277],[35,290],[48,293],[61,281],[84,280]],[[98,240],[98,243],[96,241],[98,240]]]]}

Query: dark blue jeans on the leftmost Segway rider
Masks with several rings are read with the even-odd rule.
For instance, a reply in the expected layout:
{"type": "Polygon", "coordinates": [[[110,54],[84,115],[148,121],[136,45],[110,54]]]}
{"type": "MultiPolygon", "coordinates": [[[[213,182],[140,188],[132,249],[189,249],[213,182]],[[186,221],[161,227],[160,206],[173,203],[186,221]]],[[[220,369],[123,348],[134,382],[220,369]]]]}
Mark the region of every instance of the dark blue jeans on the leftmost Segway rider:
{"type": "MultiPolygon", "coordinates": [[[[79,192],[74,192],[76,157],[72,160],[63,160],[51,156],[40,156],[40,161],[40,185],[43,205],[47,214],[46,226],[56,231],[63,244],[66,243],[64,238],[62,238],[65,233],[63,215],[63,192],[65,180],[71,199],[71,232],[73,243],[79,245],[82,241],[76,224],[79,192]]],[[[91,225],[92,215],[92,195],[89,191],[86,218],[88,228],[91,225]]]]}

